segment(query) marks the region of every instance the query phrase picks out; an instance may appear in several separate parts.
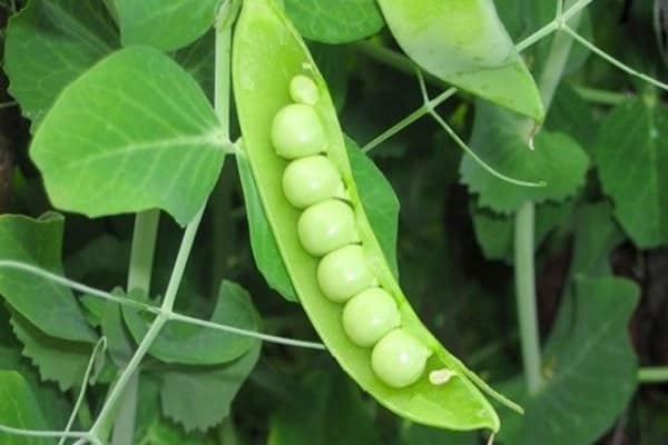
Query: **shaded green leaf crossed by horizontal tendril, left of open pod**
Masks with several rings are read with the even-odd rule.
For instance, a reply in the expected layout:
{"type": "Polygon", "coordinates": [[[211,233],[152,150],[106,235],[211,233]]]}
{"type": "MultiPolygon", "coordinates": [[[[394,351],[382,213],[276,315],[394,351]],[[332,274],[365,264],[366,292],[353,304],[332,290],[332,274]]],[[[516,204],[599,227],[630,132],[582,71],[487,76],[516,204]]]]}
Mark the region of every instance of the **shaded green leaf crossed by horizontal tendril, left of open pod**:
{"type": "MultiPolygon", "coordinates": [[[[145,320],[137,309],[128,306],[122,308],[122,315],[132,337],[137,343],[140,342],[153,317],[145,320]]],[[[220,285],[209,320],[248,330],[258,329],[257,314],[248,293],[230,281],[223,281],[220,285]]],[[[165,363],[217,365],[238,358],[254,344],[252,338],[237,334],[170,322],[163,328],[148,353],[165,363]]]]}

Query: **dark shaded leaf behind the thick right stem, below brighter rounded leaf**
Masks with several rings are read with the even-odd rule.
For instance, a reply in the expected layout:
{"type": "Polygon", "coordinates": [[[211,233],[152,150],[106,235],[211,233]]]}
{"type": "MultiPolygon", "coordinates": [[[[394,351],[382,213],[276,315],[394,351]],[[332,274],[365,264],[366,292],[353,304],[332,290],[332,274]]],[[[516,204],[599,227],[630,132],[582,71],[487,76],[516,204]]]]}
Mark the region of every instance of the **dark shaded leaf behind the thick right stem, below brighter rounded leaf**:
{"type": "MultiPolygon", "coordinates": [[[[573,210],[573,202],[544,202],[536,208],[536,249],[557,226],[562,224],[573,210]]],[[[514,218],[498,215],[488,209],[471,206],[475,239],[487,259],[513,261],[514,218]]]]}

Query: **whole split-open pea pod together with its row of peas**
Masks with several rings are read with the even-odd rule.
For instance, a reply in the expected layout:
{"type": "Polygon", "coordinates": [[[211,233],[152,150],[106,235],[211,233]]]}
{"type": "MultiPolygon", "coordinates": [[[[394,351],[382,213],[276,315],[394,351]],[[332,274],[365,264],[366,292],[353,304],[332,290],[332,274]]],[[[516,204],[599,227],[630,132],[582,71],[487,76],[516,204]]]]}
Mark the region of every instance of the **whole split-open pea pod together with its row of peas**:
{"type": "Polygon", "coordinates": [[[477,385],[508,400],[431,335],[396,283],[356,189],[327,87],[299,34],[273,0],[245,0],[233,44],[239,156],[327,350],[405,418],[498,431],[477,385]]]}

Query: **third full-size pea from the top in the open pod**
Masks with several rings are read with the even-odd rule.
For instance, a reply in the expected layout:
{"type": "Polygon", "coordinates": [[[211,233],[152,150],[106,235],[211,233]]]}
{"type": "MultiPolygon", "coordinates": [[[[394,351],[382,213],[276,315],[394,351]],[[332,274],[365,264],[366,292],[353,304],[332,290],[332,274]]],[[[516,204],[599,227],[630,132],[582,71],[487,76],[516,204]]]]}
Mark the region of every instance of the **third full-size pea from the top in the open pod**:
{"type": "Polygon", "coordinates": [[[304,249],[316,257],[360,240],[353,209],[338,199],[328,199],[304,210],[297,222],[297,234],[304,249]]]}

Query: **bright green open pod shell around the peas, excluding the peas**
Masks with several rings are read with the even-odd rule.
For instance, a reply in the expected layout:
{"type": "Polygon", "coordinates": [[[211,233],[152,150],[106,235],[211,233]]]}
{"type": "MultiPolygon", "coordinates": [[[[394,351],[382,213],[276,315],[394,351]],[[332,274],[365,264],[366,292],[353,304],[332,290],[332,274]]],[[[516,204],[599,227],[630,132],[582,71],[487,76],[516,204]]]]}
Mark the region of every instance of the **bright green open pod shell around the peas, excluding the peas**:
{"type": "Polygon", "coordinates": [[[475,385],[518,407],[445,350],[411,308],[369,224],[325,81],[302,38],[273,0],[244,1],[233,43],[233,82],[245,148],[245,155],[239,156],[247,156],[287,273],[330,353],[363,389],[400,416],[443,428],[498,431],[499,417],[475,385]],[[271,135],[274,117],[291,103],[288,86],[297,75],[313,79],[318,89],[320,100],[313,107],[324,127],[326,156],[343,179],[364,257],[380,285],[395,300],[403,329],[431,353],[425,372],[410,386],[391,387],[374,374],[371,348],[358,347],[348,339],[342,327],[343,305],[323,295],[317,280],[318,258],[306,253],[299,241],[301,211],[287,201],[282,188],[288,161],[276,155],[271,135]],[[452,377],[432,384],[430,373],[443,369],[452,377]]]}

